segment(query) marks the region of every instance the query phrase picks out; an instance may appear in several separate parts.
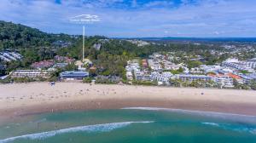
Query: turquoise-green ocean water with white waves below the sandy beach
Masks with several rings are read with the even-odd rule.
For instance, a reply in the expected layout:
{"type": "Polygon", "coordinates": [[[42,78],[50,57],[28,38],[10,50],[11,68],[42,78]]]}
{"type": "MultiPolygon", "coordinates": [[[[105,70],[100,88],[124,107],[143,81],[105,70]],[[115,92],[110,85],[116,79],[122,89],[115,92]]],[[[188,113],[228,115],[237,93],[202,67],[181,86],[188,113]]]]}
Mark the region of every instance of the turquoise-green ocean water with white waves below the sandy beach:
{"type": "Polygon", "coordinates": [[[0,143],[256,143],[256,117],[163,108],[54,112],[0,124],[0,143]]]}

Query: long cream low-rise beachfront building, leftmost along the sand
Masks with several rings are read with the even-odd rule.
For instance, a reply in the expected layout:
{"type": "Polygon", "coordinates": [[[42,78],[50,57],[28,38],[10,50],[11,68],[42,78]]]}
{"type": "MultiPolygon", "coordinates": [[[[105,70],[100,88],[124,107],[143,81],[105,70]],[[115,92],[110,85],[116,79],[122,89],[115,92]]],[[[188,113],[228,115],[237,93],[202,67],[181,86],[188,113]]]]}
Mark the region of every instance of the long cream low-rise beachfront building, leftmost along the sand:
{"type": "Polygon", "coordinates": [[[49,77],[49,72],[46,70],[16,70],[15,72],[11,73],[11,77],[20,78],[20,77],[29,77],[29,78],[36,78],[36,77],[49,77]]]}

